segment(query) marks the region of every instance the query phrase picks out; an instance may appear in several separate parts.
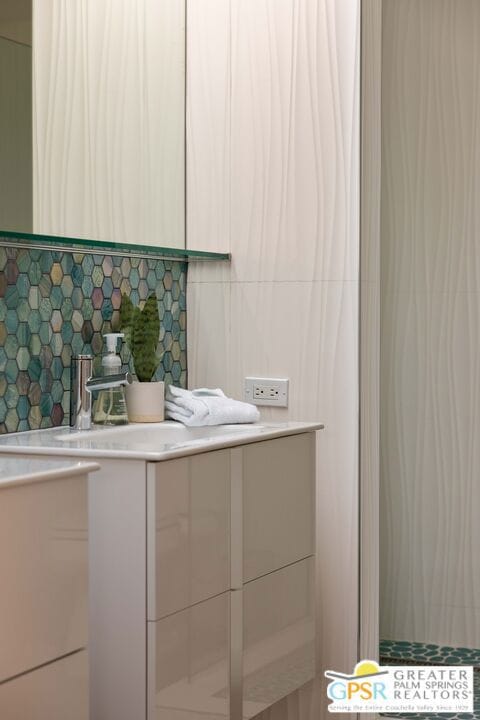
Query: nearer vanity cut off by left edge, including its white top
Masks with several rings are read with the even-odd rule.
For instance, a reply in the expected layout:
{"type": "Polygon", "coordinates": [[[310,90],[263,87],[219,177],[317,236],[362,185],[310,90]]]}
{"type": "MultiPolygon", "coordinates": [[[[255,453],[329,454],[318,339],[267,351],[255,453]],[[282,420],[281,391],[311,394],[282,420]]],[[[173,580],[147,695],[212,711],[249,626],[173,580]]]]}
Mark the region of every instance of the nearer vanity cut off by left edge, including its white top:
{"type": "Polygon", "coordinates": [[[88,720],[87,473],[0,459],[0,717],[88,720]]]}

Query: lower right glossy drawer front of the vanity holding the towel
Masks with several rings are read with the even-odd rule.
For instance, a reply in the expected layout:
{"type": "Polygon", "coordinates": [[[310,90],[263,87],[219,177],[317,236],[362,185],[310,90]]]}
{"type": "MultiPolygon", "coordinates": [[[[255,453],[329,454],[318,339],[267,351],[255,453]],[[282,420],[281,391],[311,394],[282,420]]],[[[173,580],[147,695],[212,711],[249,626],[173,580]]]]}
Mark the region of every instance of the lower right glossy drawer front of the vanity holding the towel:
{"type": "Polygon", "coordinates": [[[315,676],[314,564],[308,558],[244,586],[244,718],[315,676]]]}

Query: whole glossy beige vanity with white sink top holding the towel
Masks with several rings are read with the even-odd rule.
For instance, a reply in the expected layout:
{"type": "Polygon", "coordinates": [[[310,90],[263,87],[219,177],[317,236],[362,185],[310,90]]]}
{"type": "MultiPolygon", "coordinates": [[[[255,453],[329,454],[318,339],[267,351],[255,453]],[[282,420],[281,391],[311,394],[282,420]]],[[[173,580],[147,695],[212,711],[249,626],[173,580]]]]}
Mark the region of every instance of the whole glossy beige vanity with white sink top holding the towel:
{"type": "Polygon", "coordinates": [[[54,428],[0,453],[94,458],[91,720],[251,718],[315,674],[315,431],[54,428]]]}

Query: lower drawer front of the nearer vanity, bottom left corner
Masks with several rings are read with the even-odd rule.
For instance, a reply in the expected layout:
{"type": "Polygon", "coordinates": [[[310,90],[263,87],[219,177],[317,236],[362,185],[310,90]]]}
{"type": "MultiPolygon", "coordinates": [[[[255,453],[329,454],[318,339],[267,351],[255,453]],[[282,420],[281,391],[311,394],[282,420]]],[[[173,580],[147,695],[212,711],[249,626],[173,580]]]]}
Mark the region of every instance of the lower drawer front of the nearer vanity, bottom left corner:
{"type": "Polygon", "coordinates": [[[0,685],[2,720],[88,720],[85,650],[0,685]]]}

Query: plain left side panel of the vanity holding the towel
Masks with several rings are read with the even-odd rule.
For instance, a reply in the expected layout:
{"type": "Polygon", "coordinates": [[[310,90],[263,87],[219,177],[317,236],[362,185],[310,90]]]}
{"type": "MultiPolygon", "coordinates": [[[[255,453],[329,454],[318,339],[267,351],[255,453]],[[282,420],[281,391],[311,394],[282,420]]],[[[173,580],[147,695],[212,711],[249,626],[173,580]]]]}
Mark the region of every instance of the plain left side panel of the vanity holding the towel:
{"type": "Polygon", "coordinates": [[[143,460],[89,478],[90,720],[146,717],[146,485],[143,460]]]}

